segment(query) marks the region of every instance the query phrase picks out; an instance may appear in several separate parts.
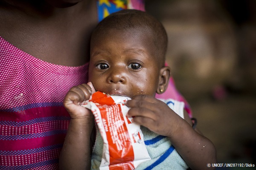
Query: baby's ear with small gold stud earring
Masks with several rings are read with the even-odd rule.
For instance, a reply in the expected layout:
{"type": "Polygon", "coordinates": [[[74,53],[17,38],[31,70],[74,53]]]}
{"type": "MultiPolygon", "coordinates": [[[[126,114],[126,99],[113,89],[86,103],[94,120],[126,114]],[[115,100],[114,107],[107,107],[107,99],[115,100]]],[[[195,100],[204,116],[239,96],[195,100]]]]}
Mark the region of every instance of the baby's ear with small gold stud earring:
{"type": "Polygon", "coordinates": [[[162,94],[163,92],[166,91],[168,84],[169,84],[170,76],[171,76],[171,68],[170,67],[166,66],[166,67],[163,67],[160,69],[157,94],[162,94]]]}

